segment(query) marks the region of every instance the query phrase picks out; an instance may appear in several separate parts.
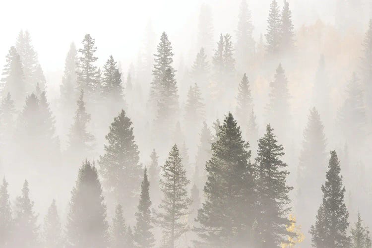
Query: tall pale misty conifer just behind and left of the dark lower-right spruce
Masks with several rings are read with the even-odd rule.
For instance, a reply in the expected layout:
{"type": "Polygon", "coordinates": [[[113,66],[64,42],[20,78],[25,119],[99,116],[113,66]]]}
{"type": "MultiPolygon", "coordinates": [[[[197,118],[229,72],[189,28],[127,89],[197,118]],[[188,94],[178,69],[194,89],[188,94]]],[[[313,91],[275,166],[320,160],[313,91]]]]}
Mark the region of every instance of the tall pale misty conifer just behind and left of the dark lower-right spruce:
{"type": "Polygon", "coordinates": [[[320,116],[315,108],[310,110],[308,124],[304,130],[304,140],[297,169],[297,211],[301,218],[301,226],[308,230],[312,217],[316,214],[316,204],[320,204],[321,192],[313,186],[321,185],[326,173],[326,138],[320,116]]]}

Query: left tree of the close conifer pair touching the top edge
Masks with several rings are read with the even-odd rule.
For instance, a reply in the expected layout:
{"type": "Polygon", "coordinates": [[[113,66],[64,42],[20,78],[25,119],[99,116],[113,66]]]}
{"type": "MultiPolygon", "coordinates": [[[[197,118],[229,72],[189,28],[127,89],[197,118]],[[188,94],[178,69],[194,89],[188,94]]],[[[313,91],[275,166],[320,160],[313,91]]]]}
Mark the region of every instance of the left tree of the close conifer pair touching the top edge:
{"type": "Polygon", "coordinates": [[[269,17],[267,18],[266,29],[266,51],[269,55],[277,55],[280,46],[280,11],[276,0],[272,0],[270,4],[269,17]]]}

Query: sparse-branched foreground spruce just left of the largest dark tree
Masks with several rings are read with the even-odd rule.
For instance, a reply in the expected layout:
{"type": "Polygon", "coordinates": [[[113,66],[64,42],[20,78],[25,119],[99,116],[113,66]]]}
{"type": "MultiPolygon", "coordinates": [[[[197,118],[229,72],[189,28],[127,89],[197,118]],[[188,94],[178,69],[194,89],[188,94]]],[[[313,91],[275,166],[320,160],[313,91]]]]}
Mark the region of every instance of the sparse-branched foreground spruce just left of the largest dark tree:
{"type": "Polygon", "coordinates": [[[162,166],[162,172],[160,185],[163,197],[159,205],[160,212],[156,213],[156,222],[163,231],[164,247],[174,248],[175,241],[188,230],[184,217],[189,214],[188,207],[192,202],[186,190],[190,181],[186,178],[186,170],[176,145],[162,166]]]}

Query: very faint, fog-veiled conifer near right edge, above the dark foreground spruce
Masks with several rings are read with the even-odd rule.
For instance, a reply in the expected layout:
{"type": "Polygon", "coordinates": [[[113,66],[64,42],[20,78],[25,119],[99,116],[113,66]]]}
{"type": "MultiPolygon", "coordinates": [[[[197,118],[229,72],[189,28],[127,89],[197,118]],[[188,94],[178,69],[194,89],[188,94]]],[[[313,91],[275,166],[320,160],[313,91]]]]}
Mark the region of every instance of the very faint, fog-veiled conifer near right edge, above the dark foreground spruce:
{"type": "Polygon", "coordinates": [[[363,90],[355,73],[348,82],[346,94],[345,102],[338,113],[338,121],[346,141],[354,148],[363,142],[367,123],[363,90]]]}

